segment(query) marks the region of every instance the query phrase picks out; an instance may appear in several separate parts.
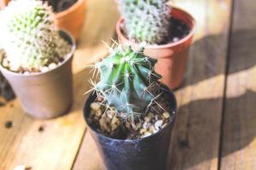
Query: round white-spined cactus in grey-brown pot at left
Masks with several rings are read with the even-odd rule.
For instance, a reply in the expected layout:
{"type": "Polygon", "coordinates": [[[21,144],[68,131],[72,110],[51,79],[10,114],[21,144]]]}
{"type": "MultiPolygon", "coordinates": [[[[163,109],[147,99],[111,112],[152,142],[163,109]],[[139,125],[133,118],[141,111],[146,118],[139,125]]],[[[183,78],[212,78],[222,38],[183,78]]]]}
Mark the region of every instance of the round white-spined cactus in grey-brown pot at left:
{"type": "Polygon", "coordinates": [[[38,118],[67,112],[73,100],[73,37],[59,31],[51,8],[37,0],[12,1],[0,14],[0,70],[21,106],[38,118]]]}

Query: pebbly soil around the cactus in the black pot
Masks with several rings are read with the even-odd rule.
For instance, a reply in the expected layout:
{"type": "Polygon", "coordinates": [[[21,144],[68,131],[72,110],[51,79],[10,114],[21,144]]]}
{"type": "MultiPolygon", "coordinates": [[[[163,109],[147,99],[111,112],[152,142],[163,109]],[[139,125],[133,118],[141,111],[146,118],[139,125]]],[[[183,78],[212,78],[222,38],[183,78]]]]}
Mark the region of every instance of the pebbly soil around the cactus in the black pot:
{"type": "Polygon", "coordinates": [[[98,98],[90,105],[90,116],[87,120],[90,127],[110,138],[141,139],[159,132],[172,120],[174,113],[171,111],[168,94],[163,92],[156,101],[160,106],[151,105],[144,116],[134,116],[132,120],[131,117],[122,118],[122,113],[114,107],[106,108],[102,105],[102,99],[98,98]]]}

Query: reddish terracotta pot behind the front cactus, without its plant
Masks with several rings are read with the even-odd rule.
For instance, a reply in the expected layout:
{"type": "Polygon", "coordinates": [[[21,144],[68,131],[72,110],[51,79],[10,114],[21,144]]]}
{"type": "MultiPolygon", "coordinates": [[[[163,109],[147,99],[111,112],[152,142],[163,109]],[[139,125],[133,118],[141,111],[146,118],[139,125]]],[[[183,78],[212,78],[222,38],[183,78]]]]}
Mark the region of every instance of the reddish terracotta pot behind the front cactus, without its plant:
{"type": "MultiPolygon", "coordinates": [[[[169,88],[175,89],[181,86],[189,54],[189,47],[195,31],[195,19],[180,8],[172,7],[171,15],[177,20],[183,21],[189,26],[189,34],[177,42],[164,45],[146,46],[144,54],[158,59],[155,65],[155,71],[162,75],[161,82],[164,82],[169,88]]],[[[131,44],[132,48],[137,49],[138,45],[128,40],[124,36],[121,26],[125,24],[124,19],[120,19],[116,25],[116,31],[119,41],[123,44],[131,44]]]]}

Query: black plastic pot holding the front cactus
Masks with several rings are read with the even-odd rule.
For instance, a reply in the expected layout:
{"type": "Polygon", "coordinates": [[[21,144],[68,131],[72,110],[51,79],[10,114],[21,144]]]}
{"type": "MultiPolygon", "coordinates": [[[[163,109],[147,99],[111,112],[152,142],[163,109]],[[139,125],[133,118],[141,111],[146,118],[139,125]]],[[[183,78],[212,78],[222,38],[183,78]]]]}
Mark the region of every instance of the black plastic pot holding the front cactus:
{"type": "Polygon", "coordinates": [[[108,170],[165,170],[172,127],[175,122],[177,102],[171,91],[169,101],[172,105],[172,120],[160,130],[143,139],[111,139],[96,132],[87,122],[90,104],[96,95],[90,94],[84,104],[84,119],[90,134],[95,139],[102,159],[108,170]]]}

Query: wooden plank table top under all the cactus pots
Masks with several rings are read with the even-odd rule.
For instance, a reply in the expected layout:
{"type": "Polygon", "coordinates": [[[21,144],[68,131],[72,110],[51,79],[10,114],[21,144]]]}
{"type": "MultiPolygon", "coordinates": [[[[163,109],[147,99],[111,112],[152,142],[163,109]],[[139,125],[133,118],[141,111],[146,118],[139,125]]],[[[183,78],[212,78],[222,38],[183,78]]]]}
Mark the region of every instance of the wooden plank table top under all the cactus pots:
{"type": "MultiPolygon", "coordinates": [[[[82,116],[90,88],[84,65],[107,53],[119,18],[113,0],[88,0],[86,24],[73,61],[74,104],[66,116],[41,121],[17,99],[0,107],[0,169],[103,170],[82,116]],[[5,122],[13,122],[6,128],[5,122]]],[[[256,3],[175,0],[197,20],[185,82],[175,91],[177,122],[169,169],[256,169],[256,3]]]]}

